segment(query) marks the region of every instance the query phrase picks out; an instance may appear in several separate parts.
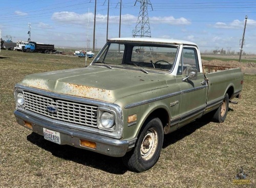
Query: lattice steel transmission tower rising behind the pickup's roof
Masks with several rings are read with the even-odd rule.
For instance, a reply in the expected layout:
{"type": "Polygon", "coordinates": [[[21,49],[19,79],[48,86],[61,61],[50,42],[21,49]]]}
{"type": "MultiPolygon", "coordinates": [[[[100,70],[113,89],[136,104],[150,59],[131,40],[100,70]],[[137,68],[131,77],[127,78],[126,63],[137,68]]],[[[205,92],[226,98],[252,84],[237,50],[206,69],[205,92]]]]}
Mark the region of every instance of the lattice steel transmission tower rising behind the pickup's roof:
{"type": "Polygon", "coordinates": [[[150,5],[152,10],[152,4],[150,0],[136,0],[136,3],[140,3],[140,13],[137,19],[137,24],[135,30],[133,31],[133,37],[151,37],[150,31],[150,20],[148,19],[147,14],[147,5],[150,5]]]}

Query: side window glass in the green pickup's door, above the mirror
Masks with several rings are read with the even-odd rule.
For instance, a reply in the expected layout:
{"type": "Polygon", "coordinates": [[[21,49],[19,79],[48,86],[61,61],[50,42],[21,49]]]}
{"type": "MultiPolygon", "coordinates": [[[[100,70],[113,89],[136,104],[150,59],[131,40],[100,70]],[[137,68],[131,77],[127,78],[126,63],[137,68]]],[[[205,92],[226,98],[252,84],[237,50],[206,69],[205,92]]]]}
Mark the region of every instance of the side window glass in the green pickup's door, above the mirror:
{"type": "Polygon", "coordinates": [[[189,69],[196,68],[199,72],[197,50],[194,48],[183,48],[182,51],[182,74],[187,75],[189,69]]]}

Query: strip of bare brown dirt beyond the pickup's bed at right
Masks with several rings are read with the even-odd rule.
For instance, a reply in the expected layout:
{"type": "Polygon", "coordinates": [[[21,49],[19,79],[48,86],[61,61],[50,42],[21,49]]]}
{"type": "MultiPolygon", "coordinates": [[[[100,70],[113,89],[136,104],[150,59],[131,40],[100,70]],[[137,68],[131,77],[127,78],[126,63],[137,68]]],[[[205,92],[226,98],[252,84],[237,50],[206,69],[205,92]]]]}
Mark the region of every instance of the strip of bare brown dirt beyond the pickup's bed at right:
{"type": "Polygon", "coordinates": [[[240,63],[238,61],[221,61],[221,60],[203,60],[203,65],[216,65],[216,66],[227,66],[227,67],[241,67],[244,74],[255,75],[256,74],[256,63],[247,62],[240,63]]]}

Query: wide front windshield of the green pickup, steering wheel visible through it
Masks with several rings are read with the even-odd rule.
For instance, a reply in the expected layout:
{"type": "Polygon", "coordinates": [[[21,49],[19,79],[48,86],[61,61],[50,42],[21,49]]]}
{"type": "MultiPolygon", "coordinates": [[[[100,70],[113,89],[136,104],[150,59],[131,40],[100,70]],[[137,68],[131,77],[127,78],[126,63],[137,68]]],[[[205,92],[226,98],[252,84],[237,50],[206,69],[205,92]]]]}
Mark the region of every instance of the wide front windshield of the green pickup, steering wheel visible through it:
{"type": "Polygon", "coordinates": [[[111,67],[169,72],[175,62],[178,46],[139,43],[107,43],[92,64],[111,67]]]}

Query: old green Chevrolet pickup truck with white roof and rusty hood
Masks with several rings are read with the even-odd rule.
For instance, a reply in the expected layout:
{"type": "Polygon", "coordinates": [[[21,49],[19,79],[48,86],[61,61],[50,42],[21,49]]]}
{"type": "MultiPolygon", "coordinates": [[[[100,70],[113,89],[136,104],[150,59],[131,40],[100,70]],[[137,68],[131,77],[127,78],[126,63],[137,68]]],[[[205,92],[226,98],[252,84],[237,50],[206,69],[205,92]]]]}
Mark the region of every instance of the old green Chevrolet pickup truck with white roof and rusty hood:
{"type": "Polygon", "coordinates": [[[114,38],[88,67],[26,76],[15,85],[14,115],[53,143],[122,157],[142,172],[165,134],[206,113],[222,123],[240,98],[240,68],[209,70],[193,42],[114,38]]]}

